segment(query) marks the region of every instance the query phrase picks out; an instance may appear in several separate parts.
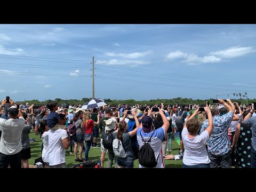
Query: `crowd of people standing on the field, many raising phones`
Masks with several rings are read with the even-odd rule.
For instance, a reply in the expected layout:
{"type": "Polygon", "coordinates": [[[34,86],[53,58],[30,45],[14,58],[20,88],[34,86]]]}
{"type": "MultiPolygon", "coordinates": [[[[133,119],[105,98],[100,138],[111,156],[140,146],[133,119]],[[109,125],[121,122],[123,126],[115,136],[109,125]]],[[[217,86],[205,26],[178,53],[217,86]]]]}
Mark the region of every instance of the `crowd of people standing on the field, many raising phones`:
{"type": "Polygon", "coordinates": [[[36,108],[29,103],[17,106],[12,99],[9,102],[3,99],[0,167],[29,167],[30,131],[40,135],[42,160],[49,168],[66,168],[65,155],[69,148],[74,162],[91,162],[91,147],[101,151],[101,167],[104,167],[106,153],[106,167],[134,167],[145,140],[154,150],[155,168],[164,168],[164,159],[174,159],[166,151],[172,151],[173,135],[178,132],[177,155],[184,168],[256,167],[254,105],[238,105],[229,99],[218,101],[217,105],[206,101],[204,106],[119,103],[82,110],[82,105],[60,107],[55,101],[36,108]],[[111,134],[112,140],[122,141],[125,157],[116,157],[112,148],[104,147],[105,134],[111,134]]]}

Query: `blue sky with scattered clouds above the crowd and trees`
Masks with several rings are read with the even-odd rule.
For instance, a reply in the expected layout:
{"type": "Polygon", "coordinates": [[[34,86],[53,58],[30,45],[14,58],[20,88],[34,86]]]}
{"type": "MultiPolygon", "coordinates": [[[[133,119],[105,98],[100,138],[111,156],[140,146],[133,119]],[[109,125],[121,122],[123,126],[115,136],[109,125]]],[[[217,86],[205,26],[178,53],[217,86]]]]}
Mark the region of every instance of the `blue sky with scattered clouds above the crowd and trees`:
{"type": "Polygon", "coordinates": [[[94,57],[95,98],[252,99],[255,45],[256,25],[0,25],[0,95],[91,98],[94,57]]]}

